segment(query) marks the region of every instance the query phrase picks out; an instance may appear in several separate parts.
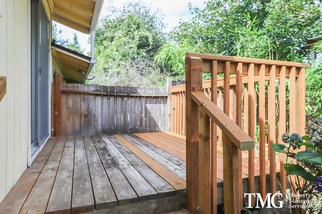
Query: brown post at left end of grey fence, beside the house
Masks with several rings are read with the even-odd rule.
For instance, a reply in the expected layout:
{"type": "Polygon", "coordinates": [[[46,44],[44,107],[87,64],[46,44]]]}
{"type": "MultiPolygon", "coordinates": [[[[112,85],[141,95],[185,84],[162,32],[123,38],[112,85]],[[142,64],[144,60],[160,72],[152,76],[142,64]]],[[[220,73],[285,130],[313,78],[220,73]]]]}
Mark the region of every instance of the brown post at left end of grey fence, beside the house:
{"type": "Polygon", "coordinates": [[[55,136],[61,135],[61,75],[55,75],[55,136]]]}

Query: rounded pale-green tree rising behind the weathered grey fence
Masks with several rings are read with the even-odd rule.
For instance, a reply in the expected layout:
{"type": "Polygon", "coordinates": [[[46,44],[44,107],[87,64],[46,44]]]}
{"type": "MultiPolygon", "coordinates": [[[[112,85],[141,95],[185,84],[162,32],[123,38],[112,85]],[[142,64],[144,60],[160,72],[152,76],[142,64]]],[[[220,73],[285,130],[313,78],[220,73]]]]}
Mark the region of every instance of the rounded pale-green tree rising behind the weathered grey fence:
{"type": "MultiPolygon", "coordinates": [[[[133,65],[136,72],[134,76],[149,76],[149,73],[138,68],[158,68],[153,57],[165,42],[163,14],[142,1],[130,1],[122,8],[109,7],[109,12],[110,15],[101,20],[95,31],[95,57],[98,59],[96,68],[100,75],[94,81],[114,85],[130,83],[130,80],[114,81],[122,78],[119,71],[124,68],[124,63],[133,65]]],[[[159,68],[157,71],[161,75],[164,73],[159,68]]],[[[165,79],[158,84],[164,82],[165,79]]],[[[137,82],[137,85],[145,83],[137,82]]]]}

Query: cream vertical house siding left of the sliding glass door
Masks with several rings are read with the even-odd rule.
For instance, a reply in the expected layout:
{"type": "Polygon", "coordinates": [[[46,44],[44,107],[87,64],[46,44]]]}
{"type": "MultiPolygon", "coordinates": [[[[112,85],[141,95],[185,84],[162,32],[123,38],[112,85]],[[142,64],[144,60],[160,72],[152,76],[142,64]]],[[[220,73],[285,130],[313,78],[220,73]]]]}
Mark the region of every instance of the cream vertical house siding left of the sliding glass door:
{"type": "Polygon", "coordinates": [[[30,0],[0,0],[0,202],[28,165],[30,141],[30,0]]]}

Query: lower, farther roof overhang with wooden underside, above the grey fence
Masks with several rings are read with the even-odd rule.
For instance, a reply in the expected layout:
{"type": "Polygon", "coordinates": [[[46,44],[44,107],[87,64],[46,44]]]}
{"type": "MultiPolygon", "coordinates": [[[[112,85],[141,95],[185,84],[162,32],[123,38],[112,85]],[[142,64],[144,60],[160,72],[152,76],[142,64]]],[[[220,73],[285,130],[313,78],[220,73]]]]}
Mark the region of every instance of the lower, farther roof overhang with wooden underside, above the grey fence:
{"type": "Polygon", "coordinates": [[[63,76],[84,83],[96,63],[96,59],[52,43],[52,53],[59,63],[63,76]]]}

